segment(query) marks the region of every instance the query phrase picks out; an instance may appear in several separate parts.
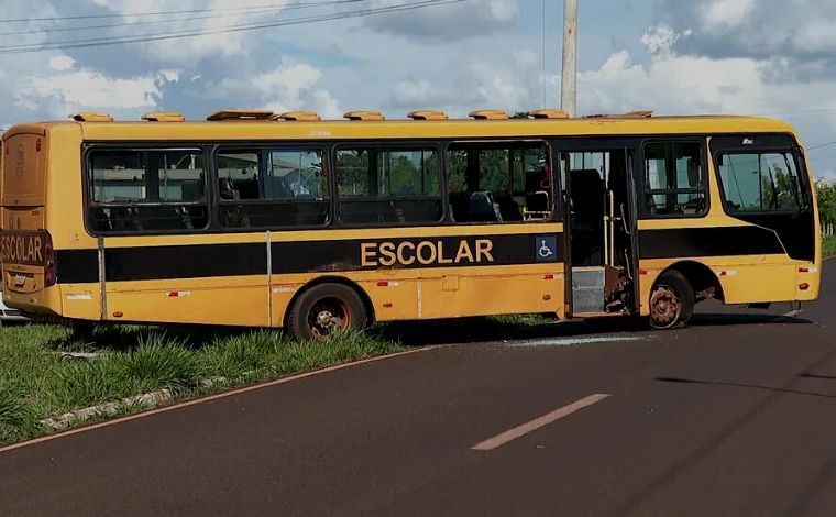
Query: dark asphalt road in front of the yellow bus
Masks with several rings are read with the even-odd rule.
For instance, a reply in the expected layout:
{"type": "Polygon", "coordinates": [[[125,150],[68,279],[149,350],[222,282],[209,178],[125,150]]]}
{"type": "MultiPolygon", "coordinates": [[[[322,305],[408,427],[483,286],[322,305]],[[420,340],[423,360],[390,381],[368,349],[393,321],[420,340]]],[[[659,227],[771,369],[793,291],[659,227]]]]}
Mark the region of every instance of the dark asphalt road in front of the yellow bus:
{"type": "Polygon", "coordinates": [[[836,515],[834,271],[800,318],[553,326],[0,453],[0,514],[836,515]]]}

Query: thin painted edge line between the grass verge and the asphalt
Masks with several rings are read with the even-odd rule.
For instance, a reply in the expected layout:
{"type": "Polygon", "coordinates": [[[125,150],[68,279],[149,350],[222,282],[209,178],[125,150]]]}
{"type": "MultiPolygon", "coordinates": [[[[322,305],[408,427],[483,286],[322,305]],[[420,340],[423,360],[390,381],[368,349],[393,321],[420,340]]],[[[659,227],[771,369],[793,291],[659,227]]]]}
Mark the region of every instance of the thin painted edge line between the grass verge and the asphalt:
{"type": "Polygon", "coordinates": [[[396,358],[402,358],[402,356],[405,356],[405,355],[417,354],[417,353],[420,353],[420,352],[428,352],[430,350],[436,350],[436,349],[439,349],[441,346],[443,346],[443,345],[425,346],[425,348],[417,349],[417,350],[407,350],[407,351],[404,351],[404,352],[396,352],[396,353],[392,353],[392,354],[380,355],[377,358],[369,358],[369,359],[363,359],[363,360],[360,360],[360,361],[353,361],[351,363],[336,364],[333,366],[327,366],[327,367],[323,367],[323,369],[315,370],[312,372],[305,372],[305,373],[299,373],[299,374],[295,374],[295,375],[289,375],[287,377],[277,378],[275,381],[268,381],[266,383],[254,384],[252,386],[245,386],[245,387],[242,387],[242,388],[231,389],[229,392],[223,392],[223,393],[216,393],[213,395],[206,395],[204,397],[194,398],[191,400],[185,400],[185,402],[182,402],[182,403],[173,404],[170,406],[165,406],[165,407],[160,407],[160,408],[151,409],[151,410],[143,411],[143,413],[138,413],[136,415],[129,415],[127,417],[117,418],[114,420],[108,420],[108,421],[103,421],[103,422],[99,422],[99,424],[94,424],[91,426],[85,426],[85,427],[79,427],[77,429],[70,429],[70,430],[67,430],[67,431],[57,432],[55,435],[47,435],[47,436],[44,436],[44,437],[34,438],[32,440],[22,441],[20,443],[12,443],[11,446],[0,447],[0,454],[6,453],[6,452],[11,452],[11,451],[16,450],[16,449],[23,449],[25,447],[37,446],[40,443],[57,440],[59,438],[68,438],[68,437],[74,436],[74,435],[80,435],[82,432],[95,431],[97,429],[102,429],[102,428],[110,427],[110,426],[116,426],[116,425],[119,425],[119,424],[125,424],[125,422],[129,422],[131,420],[139,420],[140,418],[152,417],[154,415],[160,415],[162,413],[168,413],[168,411],[174,411],[174,410],[177,410],[177,409],[187,408],[187,407],[190,407],[190,406],[197,406],[197,405],[200,405],[200,404],[210,403],[212,400],[219,400],[221,398],[233,397],[235,395],[241,395],[241,394],[244,394],[244,393],[256,392],[258,389],[264,389],[264,388],[268,388],[268,387],[272,387],[272,386],[278,386],[280,384],[287,384],[287,383],[292,383],[292,382],[295,382],[295,381],[302,381],[302,380],[308,378],[308,377],[314,377],[314,376],[317,376],[317,375],[323,375],[323,374],[327,374],[327,373],[338,372],[340,370],[346,370],[346,369],[350,369],[350,367],[353,367],[353,366],[362,366],[362,365],[365,365],[365,364],[376,363],[376,362],[385,361],[385,360],[388,360],[388,359],[396,359],[396,358]]]}

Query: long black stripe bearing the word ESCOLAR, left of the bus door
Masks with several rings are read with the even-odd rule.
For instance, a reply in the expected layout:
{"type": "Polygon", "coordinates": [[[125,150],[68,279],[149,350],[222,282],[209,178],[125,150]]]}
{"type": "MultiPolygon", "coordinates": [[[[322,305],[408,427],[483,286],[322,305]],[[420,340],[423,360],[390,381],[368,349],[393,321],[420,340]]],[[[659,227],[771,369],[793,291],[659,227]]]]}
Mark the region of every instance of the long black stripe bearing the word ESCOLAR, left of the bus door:
{"type": "MultiPolygon", "coordinates": [[[[410,263],[396,263],[388,268],[524,265],[562,263],[564,260],[560,233],[286,241],[272,244],[273,274],[385,270],[387,266],[381,264],[385,258],[381,245],[391,243],[392,249],[397,250],[406,242],[411,244],[406,252],[410,263]],[[492,260],[484,254],[477,255],[479,241],[491,241],[487,254],[492,260]],[[457,262],[463,242],[469,252],[462,250],[462,258],[457,262]],[[428,246],[435,250],[427,248],[422,255],[425,258],[435,256],[433,261],[421,263],[417,258],[417,248],[421,243],[429,243],[428,246]],[[365,264],[364,250],[367,253],[365,264]],[[443,252],[439,253],[439,250],[443,252]],[[482,261],[479,261],[480,256],[482,261]]],[[[56,254],[62,284],[99,280],[96,250],[62,250],[56,254]]],[[[105,250],[105,262],[108,282],[267,274],[265,243],[112,248],[105,250]]]]}

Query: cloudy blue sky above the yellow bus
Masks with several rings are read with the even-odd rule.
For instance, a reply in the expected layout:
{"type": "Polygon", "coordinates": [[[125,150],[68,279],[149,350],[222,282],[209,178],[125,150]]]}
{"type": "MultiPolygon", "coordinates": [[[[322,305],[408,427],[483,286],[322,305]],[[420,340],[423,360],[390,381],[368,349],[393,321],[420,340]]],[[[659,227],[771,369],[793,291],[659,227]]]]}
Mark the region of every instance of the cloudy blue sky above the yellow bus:
{"type": "MultiPolygon", "coordinates": [[[[403,118],[414,109],[464,117],[477,108],[512,112],[559,105],[560,0],[464,0],[221,32],[417,1],[3,0],[0,124],[76,111],[134,120],[148,111],[178,111],[200,120],[233,107],[329,118],[373,109],[403,118]],[[170,13],[186,10],[200,12],[170,13]],[[151,12],[168,14],[141,14],[151,12]],[[57,20],[79,15],[107,18],[57,20]],[[91,25],[99,29],[78,30],[91,25]],[[190,30],[215,33],[10,52],[190,30]]],[[[650,109],[784,119],[817,147],[810,150],[815,174],[836,179],[836,2],[579,4],[580,114],[650,109]]]]}

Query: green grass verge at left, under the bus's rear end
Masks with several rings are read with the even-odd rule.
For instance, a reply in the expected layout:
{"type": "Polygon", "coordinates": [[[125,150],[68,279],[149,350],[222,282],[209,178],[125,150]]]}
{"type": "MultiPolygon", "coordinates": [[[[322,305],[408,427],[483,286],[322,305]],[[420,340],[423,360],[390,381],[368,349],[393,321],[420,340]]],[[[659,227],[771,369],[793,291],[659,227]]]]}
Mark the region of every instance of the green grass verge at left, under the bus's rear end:
{"type": "Polygon", "coordinates": [[[78,341],[59,327],[2,327],[0,446],[48,433],[43,419],[142,393],[167,388],[182,400],[402,350],[353,333],[296,343],[276,331],[114,327],[78,341]],[[66,359],[63,351],[102,355],[66,359]],[[226,381],[205,382],[218,377],[226,381]]]}

